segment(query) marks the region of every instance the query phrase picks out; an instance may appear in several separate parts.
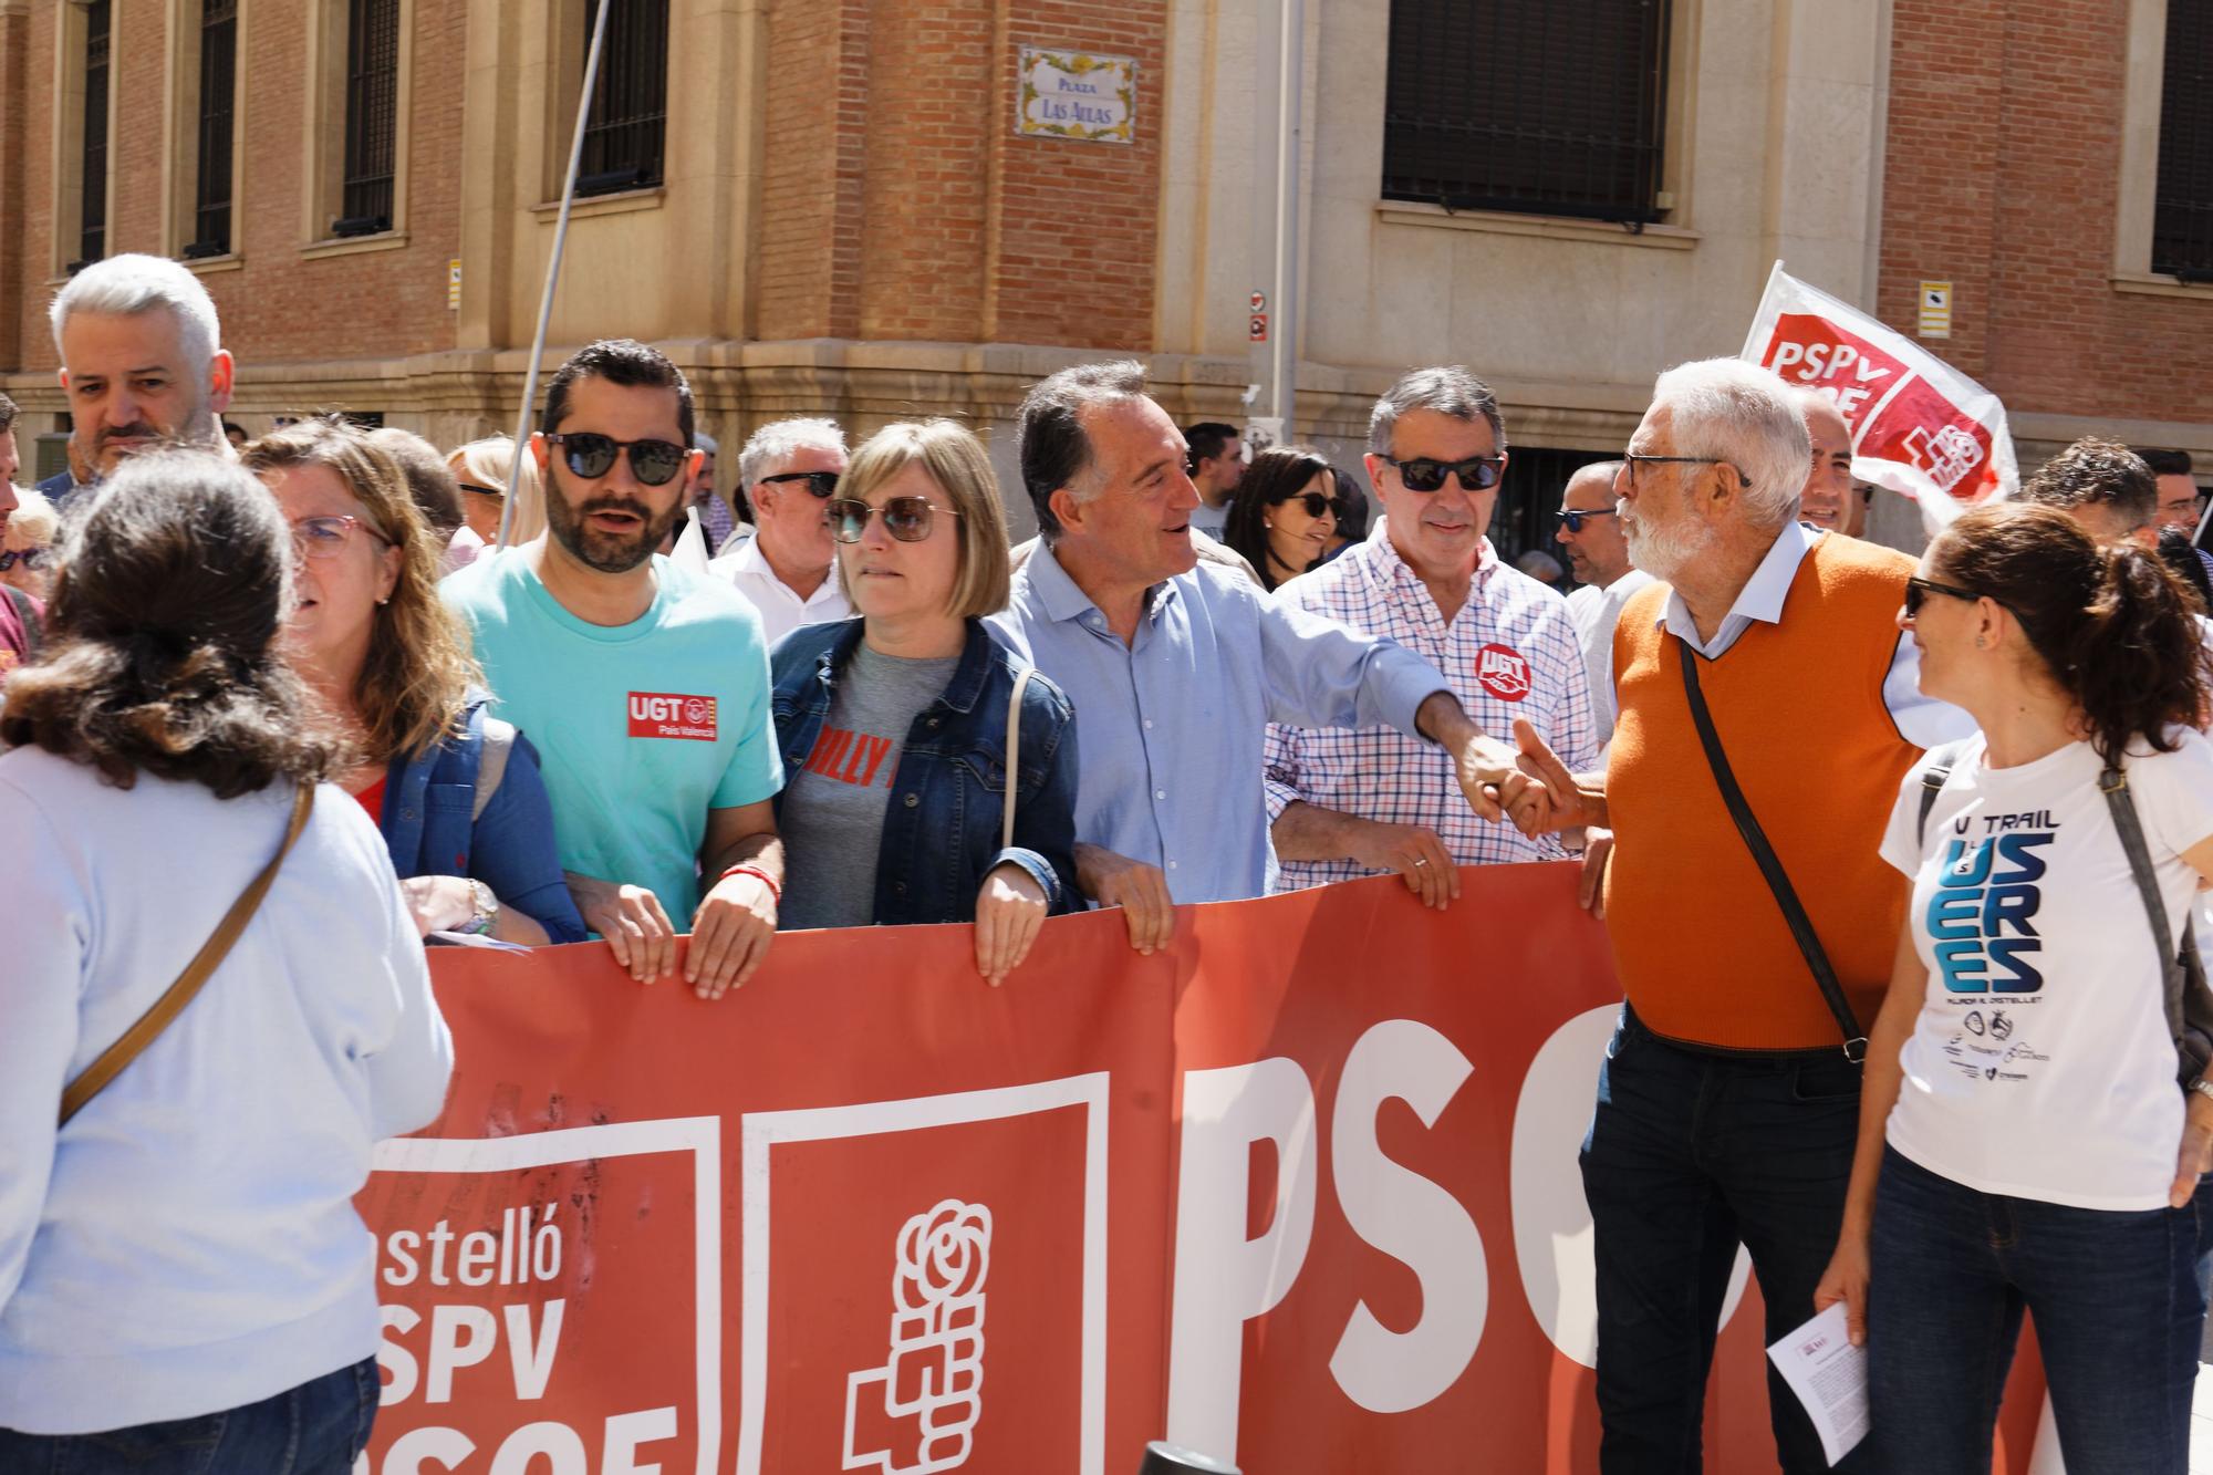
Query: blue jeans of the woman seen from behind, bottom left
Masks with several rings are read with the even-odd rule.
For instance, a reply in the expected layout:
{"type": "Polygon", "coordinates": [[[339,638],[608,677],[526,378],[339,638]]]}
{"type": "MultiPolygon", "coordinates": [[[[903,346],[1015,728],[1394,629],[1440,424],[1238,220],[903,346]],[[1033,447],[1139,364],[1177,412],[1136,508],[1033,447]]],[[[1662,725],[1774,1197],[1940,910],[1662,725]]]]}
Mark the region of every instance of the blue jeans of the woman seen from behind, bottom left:
{"type": "Polygon", "coordinates": [[[0,1428],[9,1475],[347,1475],[376,1420],[376,1358],[259,1404],[93,1435],[0,1428]]]}

